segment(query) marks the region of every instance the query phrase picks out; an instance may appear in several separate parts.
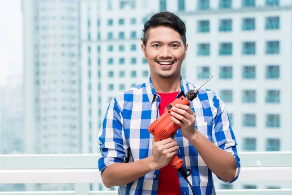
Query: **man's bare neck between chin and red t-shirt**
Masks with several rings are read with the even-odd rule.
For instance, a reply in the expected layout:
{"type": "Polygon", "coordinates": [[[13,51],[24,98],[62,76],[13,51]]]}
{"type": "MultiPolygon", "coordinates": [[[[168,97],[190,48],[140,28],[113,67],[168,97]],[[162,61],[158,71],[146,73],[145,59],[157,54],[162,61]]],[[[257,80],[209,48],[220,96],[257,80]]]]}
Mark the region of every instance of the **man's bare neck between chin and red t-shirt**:
{"type": "Polygon", "coordinates": [[[151,76],[152,85],[158,93],[172,93],[181,90],[181,75],[171,78],[161,78],[151,76]]]}

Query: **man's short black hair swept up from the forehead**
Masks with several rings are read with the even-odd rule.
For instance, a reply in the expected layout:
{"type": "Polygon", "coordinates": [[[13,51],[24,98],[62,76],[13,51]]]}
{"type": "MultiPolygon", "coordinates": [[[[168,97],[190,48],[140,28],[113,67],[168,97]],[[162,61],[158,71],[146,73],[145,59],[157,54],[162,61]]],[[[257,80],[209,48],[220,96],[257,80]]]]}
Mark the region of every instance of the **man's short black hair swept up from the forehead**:
{"type": "Polygon", "coordinates": [[[171,13],[171,12],[159,12],[157,14],[154,14],[149,20],[147,20],[144,24],[144,44],[146,46],[147,39],[148,39],[148,33],[149,29],[151,27],[155,28],[157,26],[167,26],[171,27],[178,33],[180,33],[183,44],[185,46],[186,44],[186,38],[185,38],[185,24],[183,23],[183,20],[180,19],[177,15],[171,13]]]}

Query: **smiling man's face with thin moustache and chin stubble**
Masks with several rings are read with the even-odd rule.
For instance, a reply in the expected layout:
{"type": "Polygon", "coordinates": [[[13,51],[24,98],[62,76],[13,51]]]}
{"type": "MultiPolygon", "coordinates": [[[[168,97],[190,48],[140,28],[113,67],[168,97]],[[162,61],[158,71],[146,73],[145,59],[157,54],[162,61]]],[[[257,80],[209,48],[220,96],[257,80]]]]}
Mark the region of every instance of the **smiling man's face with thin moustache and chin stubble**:
{"type": "Polygon", "coordinates": [[[171,78],[181,74],[187,44],[183,45],[181,35],[177,31],[166,26],[150,28],[146,46],[144,44],[141,46],[151,76],[171,78]]]}

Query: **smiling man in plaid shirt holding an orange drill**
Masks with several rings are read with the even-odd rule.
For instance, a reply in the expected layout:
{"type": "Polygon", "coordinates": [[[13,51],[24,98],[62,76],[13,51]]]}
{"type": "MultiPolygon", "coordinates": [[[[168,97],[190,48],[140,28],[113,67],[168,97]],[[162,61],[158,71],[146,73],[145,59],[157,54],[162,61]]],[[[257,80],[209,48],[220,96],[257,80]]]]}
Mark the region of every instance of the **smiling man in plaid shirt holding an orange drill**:
{"type": "Polygon", "coordinates": [[[153,141],[147,128],[175,98],[195,86],[181,77],[187,47],[185,25],[170,12],[153,15],[144,25],[141,47],[150,77],[112,98],[99,132],[98,165],[106,187],[120,195],[189,195],[183,176],[168,165],[172,156],[183,169],[196,195],[214,195],[212,172],[226,183],[235,181],[240,163],[224,103],[201,88],[191,106],[173,107],[172,120],[181,129],[174,138],[153,141]]]}

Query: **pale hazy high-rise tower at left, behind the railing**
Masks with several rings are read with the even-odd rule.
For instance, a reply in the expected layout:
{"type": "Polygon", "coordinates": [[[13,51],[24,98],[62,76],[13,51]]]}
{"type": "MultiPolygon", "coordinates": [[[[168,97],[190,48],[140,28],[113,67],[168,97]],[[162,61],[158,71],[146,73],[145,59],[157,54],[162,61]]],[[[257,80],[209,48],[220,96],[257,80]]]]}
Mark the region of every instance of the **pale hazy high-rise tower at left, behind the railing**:
{"type": "Polygon", "coordinates": [[[79,4],[79,0],[22,1],[27,154],[82,152],[79,4]]]}

